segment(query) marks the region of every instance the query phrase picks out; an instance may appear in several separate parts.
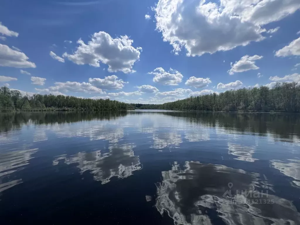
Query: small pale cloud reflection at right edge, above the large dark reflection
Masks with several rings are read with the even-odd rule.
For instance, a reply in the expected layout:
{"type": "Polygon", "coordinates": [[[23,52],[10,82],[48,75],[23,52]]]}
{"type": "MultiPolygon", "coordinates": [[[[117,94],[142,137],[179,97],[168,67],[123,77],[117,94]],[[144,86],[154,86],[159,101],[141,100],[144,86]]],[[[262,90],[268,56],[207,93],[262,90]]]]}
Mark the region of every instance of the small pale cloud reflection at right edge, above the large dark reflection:
{"type": "Polygon", "coordinates": [[[271,160],[272,166],[286,176],[293,178],[293,183],[300,187],[300,160],[288,159],[287,162],[271,160]]]}

